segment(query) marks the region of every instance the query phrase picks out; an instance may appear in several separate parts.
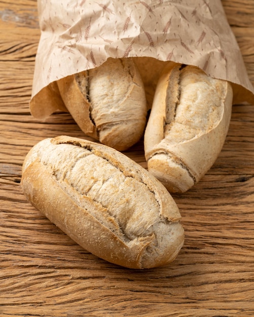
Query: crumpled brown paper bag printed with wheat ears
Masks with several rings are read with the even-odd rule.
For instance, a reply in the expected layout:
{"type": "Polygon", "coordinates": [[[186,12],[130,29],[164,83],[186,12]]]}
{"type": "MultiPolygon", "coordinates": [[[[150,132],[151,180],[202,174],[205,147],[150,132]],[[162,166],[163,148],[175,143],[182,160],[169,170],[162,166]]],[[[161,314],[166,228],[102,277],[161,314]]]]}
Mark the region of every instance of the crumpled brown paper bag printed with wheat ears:
{"type": "Polygon", "coordinates": [[[35,116],[59,108],[50,83],[108,57],[148,57],[147,76],[169,60],[196,65],[232,82],[234,103],[254,102],[220,0],[38,0],[38,10],[42,33],[30,102],[35,116]]]}

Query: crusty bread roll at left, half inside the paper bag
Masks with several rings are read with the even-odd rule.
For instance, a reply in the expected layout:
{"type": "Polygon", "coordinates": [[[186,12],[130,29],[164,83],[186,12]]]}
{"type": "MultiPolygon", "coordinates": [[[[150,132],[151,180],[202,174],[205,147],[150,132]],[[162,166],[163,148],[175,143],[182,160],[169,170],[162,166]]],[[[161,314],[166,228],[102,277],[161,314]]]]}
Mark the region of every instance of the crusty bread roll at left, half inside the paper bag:
{"type": "Polygon", "coordinates": [[[86,135],[119,151],[143,135],[146,94],[131,58],[109,58],[99,67],[64,77],[57,84],[66,108],[86,135]]]}

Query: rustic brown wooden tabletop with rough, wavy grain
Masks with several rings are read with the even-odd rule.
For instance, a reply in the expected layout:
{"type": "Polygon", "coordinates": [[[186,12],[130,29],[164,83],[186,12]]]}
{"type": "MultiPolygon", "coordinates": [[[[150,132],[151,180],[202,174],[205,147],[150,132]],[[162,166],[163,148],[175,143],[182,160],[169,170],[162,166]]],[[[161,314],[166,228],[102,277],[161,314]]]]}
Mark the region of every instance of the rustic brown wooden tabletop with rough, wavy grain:
{"type": "MultiPolygon", "coordinates": [[[[253,0],[223,5],[254,84],[253,0]]],[[[121,268],[72,242],[21,192],[32,145],[84,137],[68,114],[44,123],[29,114],[39,37],[35,0],[0,1],[0,316],[253,316],[254,106],[233,107],[214,166],[174,195],[186,232],[176,260],[121,268]]],[[[141,142],[126,154],[146,167],[141,142]]]]}

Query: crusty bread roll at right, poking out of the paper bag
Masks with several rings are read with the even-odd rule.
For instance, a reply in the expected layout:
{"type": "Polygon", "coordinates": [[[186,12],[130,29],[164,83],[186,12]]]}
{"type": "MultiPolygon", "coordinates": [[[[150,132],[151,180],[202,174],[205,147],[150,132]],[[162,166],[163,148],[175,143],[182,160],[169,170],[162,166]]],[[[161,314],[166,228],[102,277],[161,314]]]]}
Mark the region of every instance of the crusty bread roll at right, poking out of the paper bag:
{"type": "Polygon", "coordinates": [[[170,62],[156,88],[144,133],[148,170],[170,192],[185,192],[211,168],[230,124],[230,83],[170,62]]]}

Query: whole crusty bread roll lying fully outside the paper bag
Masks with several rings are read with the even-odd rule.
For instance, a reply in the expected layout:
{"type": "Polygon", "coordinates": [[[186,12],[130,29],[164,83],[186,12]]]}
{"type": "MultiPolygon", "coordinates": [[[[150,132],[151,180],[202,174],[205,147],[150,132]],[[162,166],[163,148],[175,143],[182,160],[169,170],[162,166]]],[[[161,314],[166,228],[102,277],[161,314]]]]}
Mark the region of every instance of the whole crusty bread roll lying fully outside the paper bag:
{"type": "Polygon", "coordinates": [[[117,150],[59,136],[36,144],[22,167],[27,200],[89,252],[129,268],[171,262],[184,243],[166,188],[117,150]]]}

